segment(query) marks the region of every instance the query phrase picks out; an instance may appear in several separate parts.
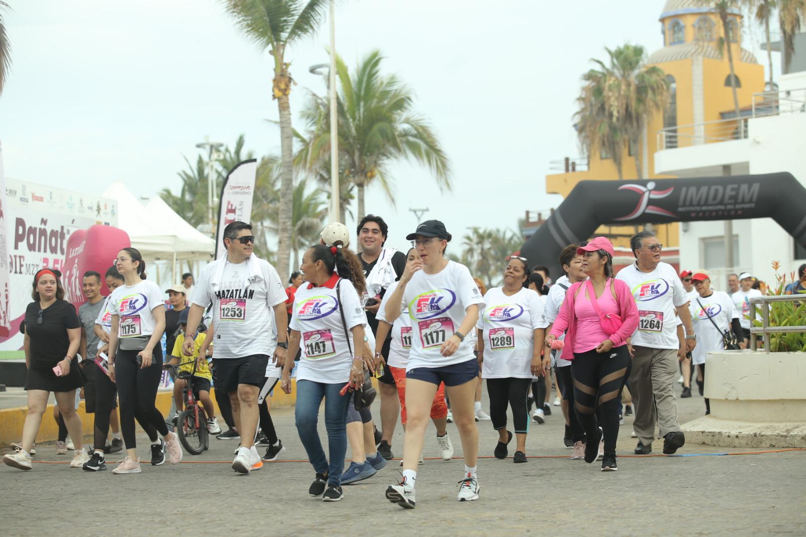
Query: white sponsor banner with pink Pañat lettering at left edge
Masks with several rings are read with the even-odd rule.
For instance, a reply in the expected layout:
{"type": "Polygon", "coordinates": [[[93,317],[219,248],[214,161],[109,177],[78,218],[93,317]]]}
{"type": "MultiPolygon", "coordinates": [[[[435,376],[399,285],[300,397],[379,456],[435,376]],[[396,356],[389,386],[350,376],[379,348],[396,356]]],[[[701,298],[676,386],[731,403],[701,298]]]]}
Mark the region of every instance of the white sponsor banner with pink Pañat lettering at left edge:
{"type": "MultiPolygon", "coordinates": [[[[36,271],[64,271],[73,231],[83,231],[95,224],[116,226],[118,206],[114,200],[99,195],[9,178],[4,194],[7,255],[3,257],[9,264],[11,326],[9,335],[0,335],[0,350],[15,350],[23,345],[19,323],[31,302],[36,271]]],[[[110,263],[113,258],[110,257],[110,263]]]]}

